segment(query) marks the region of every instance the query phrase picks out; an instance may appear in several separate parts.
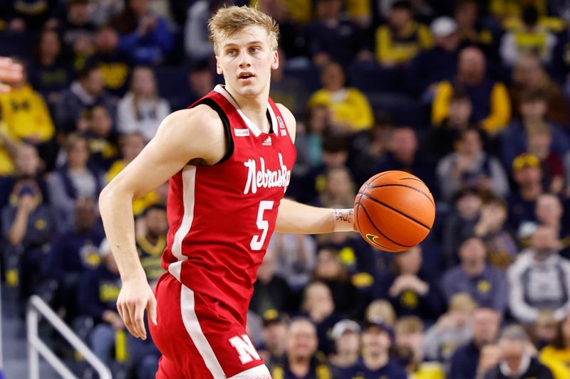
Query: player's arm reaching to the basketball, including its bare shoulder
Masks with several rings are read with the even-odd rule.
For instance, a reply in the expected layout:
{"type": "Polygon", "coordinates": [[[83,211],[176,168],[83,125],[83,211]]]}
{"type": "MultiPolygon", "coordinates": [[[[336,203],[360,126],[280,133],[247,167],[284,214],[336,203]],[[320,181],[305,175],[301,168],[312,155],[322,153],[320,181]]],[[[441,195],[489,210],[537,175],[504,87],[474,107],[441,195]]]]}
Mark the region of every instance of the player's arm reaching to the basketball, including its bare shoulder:
{"type": "MultiPolygon", "coordinates": [[[[295,142],[295,117],[283,105],[278,104],[277,107],[285,119],[291,141],[295,142]]],[[[281,201],[275,225],[275,231],[279,233],[318,234],[353,230],[352,208],[317,208],[289,199],[281,201]]]]}

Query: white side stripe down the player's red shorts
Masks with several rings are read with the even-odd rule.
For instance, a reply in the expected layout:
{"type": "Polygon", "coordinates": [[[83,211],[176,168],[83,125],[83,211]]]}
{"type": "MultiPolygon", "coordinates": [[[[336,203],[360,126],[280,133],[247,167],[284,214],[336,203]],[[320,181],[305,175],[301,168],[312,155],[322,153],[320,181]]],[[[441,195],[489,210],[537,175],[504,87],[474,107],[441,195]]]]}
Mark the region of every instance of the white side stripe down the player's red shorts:
{"type": "Polygon", "coordinates": [[[204,336],[204,332],[200,327],[194,307],[194,291],[182,284],[182,290],[180,292],[182,322],[184,322],[186,331],[190,335],[190,338],[192,338],[192,342],[194,342],[200,356],[204,359],[204,363],[206,364],[209,372],[212,373],[214,379],[224,379],[226,378],[224,370],[222,370],[222,366],[219,365],[219,361],[212,350],[212,346],[209,345],[206,336],[204,336]]]}

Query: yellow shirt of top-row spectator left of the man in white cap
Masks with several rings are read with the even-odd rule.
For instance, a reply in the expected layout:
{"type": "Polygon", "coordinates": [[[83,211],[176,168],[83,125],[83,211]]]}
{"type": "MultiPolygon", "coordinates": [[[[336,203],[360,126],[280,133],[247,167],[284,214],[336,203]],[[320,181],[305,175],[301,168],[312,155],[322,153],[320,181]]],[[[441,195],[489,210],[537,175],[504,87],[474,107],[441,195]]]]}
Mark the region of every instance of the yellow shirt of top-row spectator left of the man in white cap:
{"type": "Polygon", "coordinates": [[[412,22],[401,36],[395,36],[387,26],[376,30],[376,59],[382,63],[406,63],[420,50],[432,46],[430,31],[427,26],[412,22]]]}

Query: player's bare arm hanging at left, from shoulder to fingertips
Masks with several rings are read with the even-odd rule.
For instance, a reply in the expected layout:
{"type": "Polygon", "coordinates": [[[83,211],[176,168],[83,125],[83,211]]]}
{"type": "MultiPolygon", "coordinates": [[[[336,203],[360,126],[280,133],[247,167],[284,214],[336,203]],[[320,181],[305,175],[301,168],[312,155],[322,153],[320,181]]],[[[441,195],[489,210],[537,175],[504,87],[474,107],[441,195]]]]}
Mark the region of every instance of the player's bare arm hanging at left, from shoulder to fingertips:
{"type": "Polygon", "coordinates": [[[135,337],[146,338],[145,309],[156,324],[156,299],[135,247],[133,200],[160,186],[192,159],[215,164],[225,149],[222,121],[211,108],[199,105],[174,112],[139,156],[101,191],[100,214],[123,282],[117,308],[135,337]]]}

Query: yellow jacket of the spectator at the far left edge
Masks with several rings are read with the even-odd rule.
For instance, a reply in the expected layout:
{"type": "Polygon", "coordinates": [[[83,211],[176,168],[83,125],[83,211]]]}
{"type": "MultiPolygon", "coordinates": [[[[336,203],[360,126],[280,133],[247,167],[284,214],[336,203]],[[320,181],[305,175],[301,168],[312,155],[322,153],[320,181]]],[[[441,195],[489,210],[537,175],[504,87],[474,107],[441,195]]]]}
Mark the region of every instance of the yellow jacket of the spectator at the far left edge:
{"type": "Polygon", "coordinates": [[[30,85],[0,95],[0,106],[2,120],[17,139],[46,142],[56,132],[46,102],[30,85]]]}

